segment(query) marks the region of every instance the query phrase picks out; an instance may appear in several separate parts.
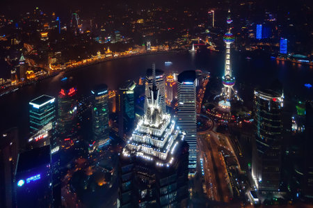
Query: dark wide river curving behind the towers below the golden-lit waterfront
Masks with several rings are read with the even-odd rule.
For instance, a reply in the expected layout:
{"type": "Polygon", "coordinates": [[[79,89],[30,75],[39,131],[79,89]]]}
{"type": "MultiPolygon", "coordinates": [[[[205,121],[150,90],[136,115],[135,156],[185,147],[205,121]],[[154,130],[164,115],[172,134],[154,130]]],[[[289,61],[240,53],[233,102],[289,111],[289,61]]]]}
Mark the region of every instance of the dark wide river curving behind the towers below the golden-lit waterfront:
{"type": "MultiPolygon", "coordinates": [[[[284,94],[293,97],[312,95],[312,90],[304,87],[305,83],[313,84],[313,69],[308,65],[298,65],[289,62],[271,60],[269,56],[249,54],[251,60],[246,60],[247,54],[233,51],[232,69],[239,83],[250,86],[267,86],[275,79],[283,83],[284,94]]],[[[117,89],[127,79],[138,82],[139,77],[145,76],[145,70],[152,63],[165,72],[182,72],[184,70],[205,70],[211,77],[220,77],[224,69],[223,52],[202,51],[199,53],[181,52],[168,54],[150,54],[106,61],[97,65],[81,67],[67,72],[66,77],[73,77],[77,83],[79,95],[88,95],[90,89],[98,83],[106,83],[109,88],[117,89]],[[172,61],[165,66],[164,61],[172,61]]],[[[18,127],[20,138],[25,138],[29,131],[29,101],[42,94],[57,97],[60,90],[61,75],[44,79],[31,86],[24,86],[15,93],[0,97],[0,132],[18,127]]],[[[235,86],[235,88],[236,88],[235,86]]],[[[239,95],[240,95],[239,90],[239,95]]]]}

